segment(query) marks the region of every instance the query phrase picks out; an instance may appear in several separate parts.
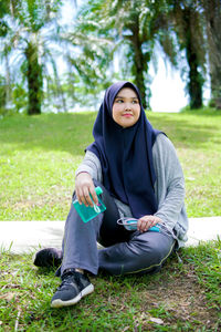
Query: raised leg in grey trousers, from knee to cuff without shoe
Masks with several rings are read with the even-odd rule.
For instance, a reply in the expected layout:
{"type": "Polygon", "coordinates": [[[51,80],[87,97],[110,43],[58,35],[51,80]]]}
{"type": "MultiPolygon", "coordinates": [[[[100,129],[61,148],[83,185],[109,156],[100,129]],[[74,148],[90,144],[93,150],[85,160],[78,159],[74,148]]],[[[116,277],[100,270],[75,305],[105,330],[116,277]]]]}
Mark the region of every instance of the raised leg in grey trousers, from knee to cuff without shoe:
{"type": "Polygon", "coordinates": [[[130,232],[117,224],[119,214],[114,199],[102,184],[96,180],[94,184],[103,189],[102,200],[106,210],[88,222],[83,222],[72,204],[65,222],[61,273],[70,268],[80,268],[96,274],[98,270],[96,241],[103,246],[110,246],[129,240],[130,232]]]}

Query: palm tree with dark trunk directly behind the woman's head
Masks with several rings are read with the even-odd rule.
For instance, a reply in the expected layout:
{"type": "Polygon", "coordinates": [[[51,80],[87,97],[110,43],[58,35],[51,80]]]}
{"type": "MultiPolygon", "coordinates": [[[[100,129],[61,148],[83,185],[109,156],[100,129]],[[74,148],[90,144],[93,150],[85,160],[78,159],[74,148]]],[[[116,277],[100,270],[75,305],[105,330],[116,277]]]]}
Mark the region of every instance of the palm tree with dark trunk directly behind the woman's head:
{"type": "Polygon", "coordinates": [[[112,17],[113,28],[118,32],[116,40],[118,40],[119,48],[122,43],[125,48],[125,65],[129,68],[134,82],[140,91],[144,107],[149,107],[151,93],[148,70],[154,56],[156,41],[160,42],[162,48],[166,37],[168,43],[172,42],[167,33],[165,12],[160,7],[161,0],[158,2],[106,0],[105,2],[104,9],[112,17]]]}

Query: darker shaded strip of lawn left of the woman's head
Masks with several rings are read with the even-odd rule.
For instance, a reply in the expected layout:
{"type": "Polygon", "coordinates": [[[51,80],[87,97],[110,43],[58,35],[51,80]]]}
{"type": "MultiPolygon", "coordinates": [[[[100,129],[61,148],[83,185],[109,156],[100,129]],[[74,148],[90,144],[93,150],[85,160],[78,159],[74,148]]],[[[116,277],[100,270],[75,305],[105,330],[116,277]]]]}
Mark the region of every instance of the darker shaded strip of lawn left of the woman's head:
{"type": "Polygon", "coordinates": [[[20,151],[41,148],[83,155],[93,142],[95,116],[95,113],[75,113],[7,118],[0,123],[0,144],[12,144],[20,151]]]}

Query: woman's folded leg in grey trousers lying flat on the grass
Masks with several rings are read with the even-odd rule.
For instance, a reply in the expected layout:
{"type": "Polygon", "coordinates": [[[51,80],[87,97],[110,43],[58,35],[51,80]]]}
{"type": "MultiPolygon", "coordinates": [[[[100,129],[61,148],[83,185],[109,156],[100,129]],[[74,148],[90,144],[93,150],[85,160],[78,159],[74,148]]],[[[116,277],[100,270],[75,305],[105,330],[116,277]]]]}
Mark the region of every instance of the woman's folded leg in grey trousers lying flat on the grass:
{"type": "Polygon", "coordinates": [[[134,232],[128,242],[98,251],[99,269],[112,274],[157,272],[175,248],[172,236],[146,231],[134,232]]]}

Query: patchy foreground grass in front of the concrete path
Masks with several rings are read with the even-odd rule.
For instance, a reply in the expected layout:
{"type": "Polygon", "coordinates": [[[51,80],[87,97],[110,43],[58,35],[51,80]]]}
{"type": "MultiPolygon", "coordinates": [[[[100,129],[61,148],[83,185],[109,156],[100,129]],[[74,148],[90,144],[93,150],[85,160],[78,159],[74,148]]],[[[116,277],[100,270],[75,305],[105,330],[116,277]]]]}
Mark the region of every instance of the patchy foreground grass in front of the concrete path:
{"type": "Polygon", "coordinates": [[[220,250],[182,249],[182,263],[173,256],[152,276],[92,277],[95,292],[65,309],[50,308],[54,271],[2,252],[0,331],[220,331],[220,250]]]}

